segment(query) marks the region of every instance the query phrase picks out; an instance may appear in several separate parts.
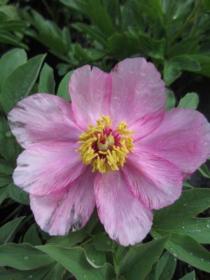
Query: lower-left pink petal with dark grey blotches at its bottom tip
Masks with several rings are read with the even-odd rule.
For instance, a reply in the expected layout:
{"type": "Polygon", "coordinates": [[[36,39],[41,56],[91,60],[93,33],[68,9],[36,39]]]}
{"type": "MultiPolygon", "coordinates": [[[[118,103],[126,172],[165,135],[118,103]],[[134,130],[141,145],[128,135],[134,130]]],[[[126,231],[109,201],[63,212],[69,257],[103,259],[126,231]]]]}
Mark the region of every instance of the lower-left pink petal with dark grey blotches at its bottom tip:
{"type": "Polygon", "coordinates": [[[95,205],[92,172],[87,168],[70,186],[51,195],[30,195],[30,201],[36,223],[50,235],[83,228],[95,205]]]}

